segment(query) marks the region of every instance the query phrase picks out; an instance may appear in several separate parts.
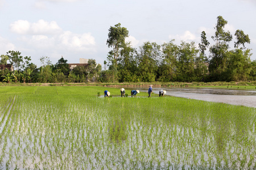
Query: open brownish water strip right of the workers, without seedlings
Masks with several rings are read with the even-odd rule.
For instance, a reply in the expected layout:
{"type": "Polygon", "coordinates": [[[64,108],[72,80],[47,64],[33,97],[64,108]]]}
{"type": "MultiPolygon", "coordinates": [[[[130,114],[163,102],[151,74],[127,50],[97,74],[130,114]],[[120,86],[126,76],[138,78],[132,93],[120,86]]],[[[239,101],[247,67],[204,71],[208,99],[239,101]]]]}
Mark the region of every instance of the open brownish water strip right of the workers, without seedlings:
{"type": "MultiPolygon", "coordinates": [[[[148,88],[137,88],[146,92],[148,88]]],[[[159,94],[159,90],[166,90],[166,95],[184,97],[188,99],[213,101],[233,105],[243,105],[256,108],[256,91],[226,90],[214,88],[154,88],[153,92],[159,94]]],[[[130,90],[127,88],[127,90],[130,90]]]]}

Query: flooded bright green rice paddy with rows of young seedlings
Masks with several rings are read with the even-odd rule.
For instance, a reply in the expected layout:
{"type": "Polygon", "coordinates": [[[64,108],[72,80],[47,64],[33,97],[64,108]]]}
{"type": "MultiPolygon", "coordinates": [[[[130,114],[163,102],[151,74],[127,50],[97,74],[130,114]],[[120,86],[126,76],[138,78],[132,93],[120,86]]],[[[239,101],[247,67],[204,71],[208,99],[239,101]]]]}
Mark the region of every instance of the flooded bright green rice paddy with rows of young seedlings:
{"type": "Polygon", "coordinates": [[[0,93],[2,169],[256,168],[255,108],[142,92],[121,98],[119,88],[96,86],[0,93]],[[104,90],[113,97],[98,97],[104,90]]]}

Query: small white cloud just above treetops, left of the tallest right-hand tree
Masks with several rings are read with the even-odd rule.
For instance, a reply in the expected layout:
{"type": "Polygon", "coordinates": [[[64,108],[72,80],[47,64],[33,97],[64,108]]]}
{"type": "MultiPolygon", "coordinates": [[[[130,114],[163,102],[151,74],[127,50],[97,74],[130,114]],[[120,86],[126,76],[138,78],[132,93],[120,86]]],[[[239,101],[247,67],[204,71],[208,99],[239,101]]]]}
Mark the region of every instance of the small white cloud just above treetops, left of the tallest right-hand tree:
{"type": "Polygon", "coordinates": [[[180,41],[185,41],[185,42],[199,42],[200,37],[197,37],[190,31],[185,31],[183,35],[169,35],[169,39],[175,39],[175,41],[180,42],[180,41]]]}

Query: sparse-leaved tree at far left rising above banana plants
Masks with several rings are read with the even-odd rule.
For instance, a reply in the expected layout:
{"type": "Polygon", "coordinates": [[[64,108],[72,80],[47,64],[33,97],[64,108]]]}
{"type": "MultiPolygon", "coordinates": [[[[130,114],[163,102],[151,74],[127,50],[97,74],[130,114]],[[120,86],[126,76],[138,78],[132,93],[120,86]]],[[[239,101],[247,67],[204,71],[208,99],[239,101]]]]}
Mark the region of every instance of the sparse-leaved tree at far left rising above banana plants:
{"type": "Polygon", "coordinates": [[[27,57],[27,56],[23,57],[23,56],[20,56],[20,54],[21,53],[19,51],[7,52],[7,56],[9,57],[11,64],[14,65],[17,71],[20,71],[20,69],[25,69],[31,61],[31,57],[27,57]]]}

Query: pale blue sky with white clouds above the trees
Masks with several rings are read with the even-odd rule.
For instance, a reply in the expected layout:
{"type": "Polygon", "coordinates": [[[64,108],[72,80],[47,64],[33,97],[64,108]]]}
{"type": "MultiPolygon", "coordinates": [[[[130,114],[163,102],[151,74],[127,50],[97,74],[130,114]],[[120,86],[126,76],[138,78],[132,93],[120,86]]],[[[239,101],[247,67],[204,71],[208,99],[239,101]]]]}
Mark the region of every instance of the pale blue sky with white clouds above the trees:
{"type": "Polygon", "coordinates": [[[112,50],[106,45],[110,26],[127,28],[126,41],[137,49],[146,41],[199,44],[202,31],[213,45],[220,15],[233,35],[230,49],[242,29],[250,38],[251,61],[256,59],[256,0],[0,0],[0,55],[19,51],[38,67],[40,57],[55,64],[61,56],[68,63],[96,59],[103,66],[112,50]]]}

